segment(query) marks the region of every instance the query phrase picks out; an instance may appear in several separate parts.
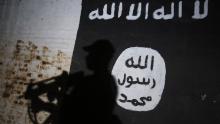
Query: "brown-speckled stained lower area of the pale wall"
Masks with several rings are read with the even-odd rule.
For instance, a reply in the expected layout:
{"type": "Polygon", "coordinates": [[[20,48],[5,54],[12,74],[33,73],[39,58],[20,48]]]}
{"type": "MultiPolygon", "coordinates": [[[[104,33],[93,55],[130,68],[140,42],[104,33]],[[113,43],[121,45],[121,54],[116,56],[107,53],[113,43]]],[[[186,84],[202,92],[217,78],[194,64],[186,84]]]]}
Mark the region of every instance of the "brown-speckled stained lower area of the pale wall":
{"type": "MultiPolygon", "coordinates": [[[[34,41],[14,43],[0,41],[0,123],[30,124],[29,102],[22,97],[27,85],[68,71],[71,57],[34,41]]],[[[39,114],[39,121],[48,116],[46,112],[39,114]]]]}

